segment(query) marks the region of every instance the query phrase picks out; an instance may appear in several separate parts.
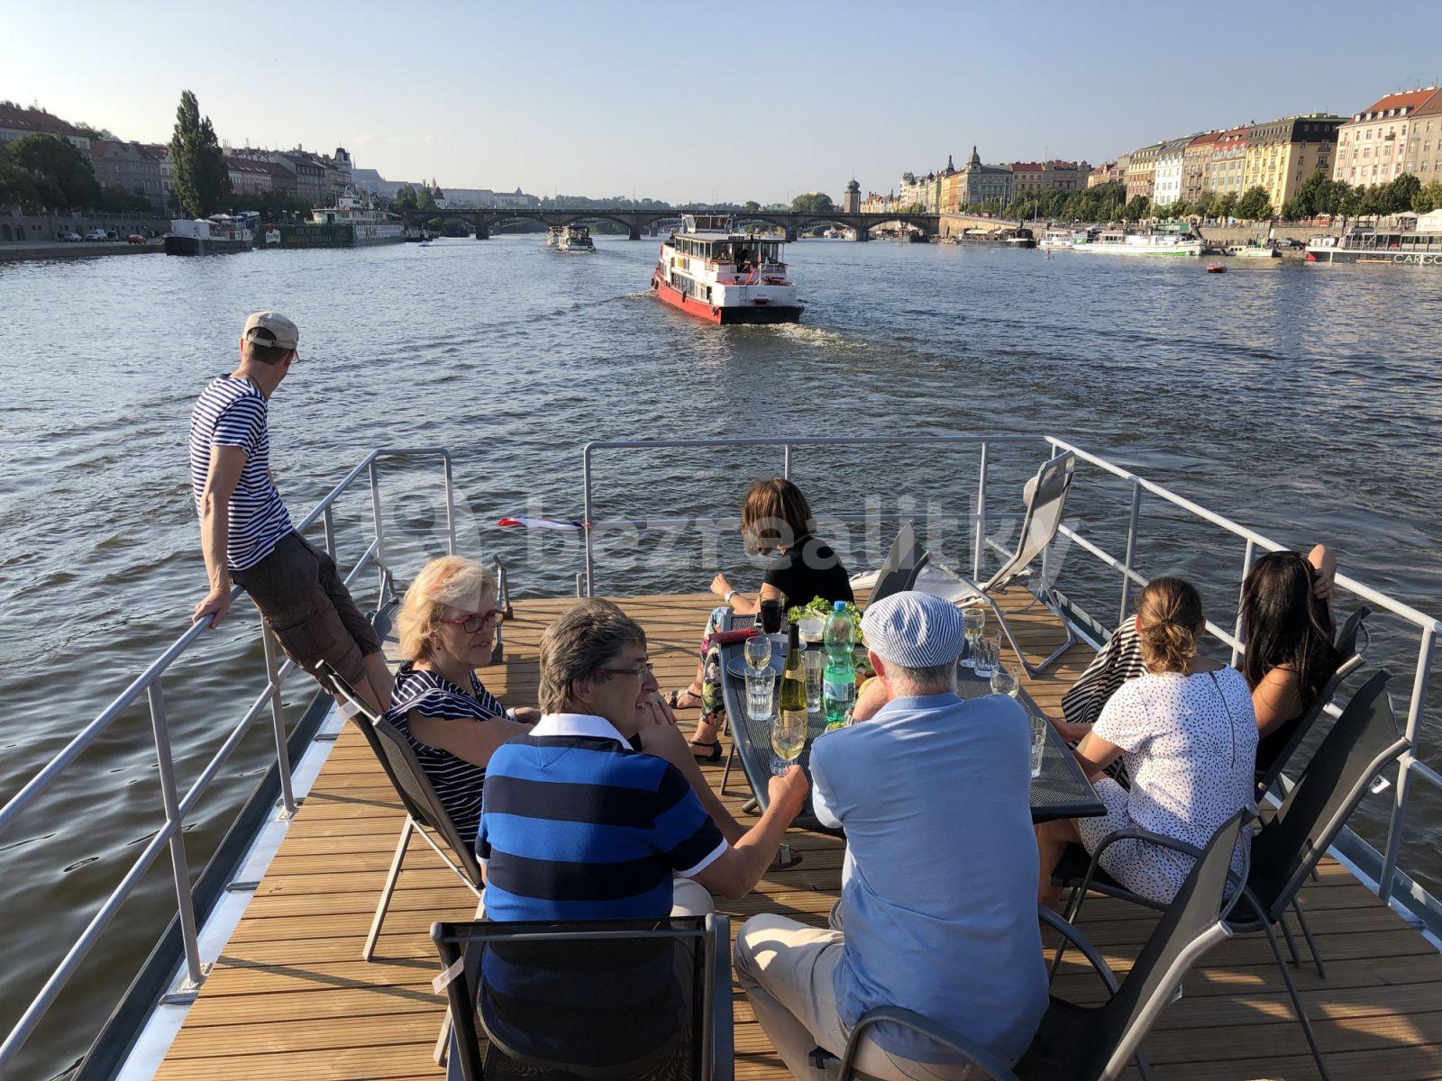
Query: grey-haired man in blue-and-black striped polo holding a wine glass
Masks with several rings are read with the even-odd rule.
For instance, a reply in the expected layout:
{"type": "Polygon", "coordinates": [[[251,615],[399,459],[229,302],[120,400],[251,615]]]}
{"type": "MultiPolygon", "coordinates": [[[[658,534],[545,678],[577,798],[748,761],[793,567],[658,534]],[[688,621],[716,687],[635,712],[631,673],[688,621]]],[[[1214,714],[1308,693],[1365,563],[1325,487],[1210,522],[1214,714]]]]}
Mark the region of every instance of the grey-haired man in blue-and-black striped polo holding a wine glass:
{"type": "Polygon", "coordinates": [[[773,777],[766,814],[727,845],[681,771],[632,748],[656,692],[646,633],[614,604],[585,601],[547,628],[544,715],[486,767],[476,850],[489,920],[698,915],[708,891],[741,898],[760,881],[805,774],[773,777]]]}

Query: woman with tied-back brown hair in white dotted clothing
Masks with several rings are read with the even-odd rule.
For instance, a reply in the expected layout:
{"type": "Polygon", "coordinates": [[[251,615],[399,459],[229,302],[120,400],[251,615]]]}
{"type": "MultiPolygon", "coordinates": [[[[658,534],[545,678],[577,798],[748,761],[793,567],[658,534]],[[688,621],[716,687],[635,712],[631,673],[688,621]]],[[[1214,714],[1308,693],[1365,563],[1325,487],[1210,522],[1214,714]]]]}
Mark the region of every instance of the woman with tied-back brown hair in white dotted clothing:
{"type": "MultiPolygon", "coordinates": [[[[1201,597],[1181,578],[1158,578],[1136,605],[1136,636],[1146,673],[1107,699],[1076,748],[1106,814],[1037,827],[1041,858],[1038,899],[1057,907],[1051,872],[1069,843],[1094,853],[1118,830],[1144,829],[1206,848],[1211,835],[1253,798],[1257,722],[1247,680],[1234,667],[1197,654],[1206,631],[1201,597]],[[1126,762],[1131,790],[1102,773],[1126,762]]],[[[1243,830],[1231,866],[1242,872],[1250,835],[1243,830]]],[[[1135,894],[1171,902],[1190,856],[1145,840],[1119,840],[1102,853],[1102,869],[1135,894]]]]}

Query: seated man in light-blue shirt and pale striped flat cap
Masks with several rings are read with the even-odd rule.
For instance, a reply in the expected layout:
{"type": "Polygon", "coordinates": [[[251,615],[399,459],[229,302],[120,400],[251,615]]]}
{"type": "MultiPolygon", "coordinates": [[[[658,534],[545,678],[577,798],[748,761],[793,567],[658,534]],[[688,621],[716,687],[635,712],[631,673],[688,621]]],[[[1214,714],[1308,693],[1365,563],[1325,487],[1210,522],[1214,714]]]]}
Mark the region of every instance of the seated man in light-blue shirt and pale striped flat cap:
{"type": "MultiPolygon", "coordinates": [[[[861,628],[885,700],[819,738],[810,758],[816,817],[846,832],[841,901],[829,930],[747,920],[737,976],[797,1078],[823,1078],[812,1048],[839,1056],[878,1006],[921,1013],[1014,1061],[1047,1009],[1027,713],[1002,695],[956,695],[962,614],[942,598],[893,594],[861,628]]],[[[871,1035],[864,1074],[966,1077],[910,1031],[871,1035]]]]}

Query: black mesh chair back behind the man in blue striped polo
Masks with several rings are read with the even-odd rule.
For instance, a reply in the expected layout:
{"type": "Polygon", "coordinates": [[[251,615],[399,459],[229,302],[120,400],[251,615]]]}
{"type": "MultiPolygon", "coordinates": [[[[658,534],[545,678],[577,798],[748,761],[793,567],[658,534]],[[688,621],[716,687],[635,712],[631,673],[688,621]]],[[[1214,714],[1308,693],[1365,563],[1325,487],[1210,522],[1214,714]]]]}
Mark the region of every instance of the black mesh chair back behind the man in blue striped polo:
{"type": "Polygon", "coordinates": [[[431,937],[466,1081],[731,1075],[725,917],[434,924],[431,937]]]}

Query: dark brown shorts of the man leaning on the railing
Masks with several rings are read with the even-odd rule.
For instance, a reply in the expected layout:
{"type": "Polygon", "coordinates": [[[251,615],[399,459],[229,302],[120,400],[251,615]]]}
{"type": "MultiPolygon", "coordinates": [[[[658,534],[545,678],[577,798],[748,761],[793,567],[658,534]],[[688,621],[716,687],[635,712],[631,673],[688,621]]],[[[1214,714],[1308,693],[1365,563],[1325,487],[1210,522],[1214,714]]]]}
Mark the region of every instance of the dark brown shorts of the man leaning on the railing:
{"type": "Polygon", "coordinates": [[[281,649],[313,676],[326,662],[356,685],[363,657],[381,651],[375,627],[350,600],[336,561],[300,533],[287,533],[268,556],[231,578],[255,601],[281,649]]]}

